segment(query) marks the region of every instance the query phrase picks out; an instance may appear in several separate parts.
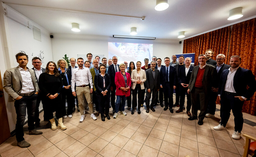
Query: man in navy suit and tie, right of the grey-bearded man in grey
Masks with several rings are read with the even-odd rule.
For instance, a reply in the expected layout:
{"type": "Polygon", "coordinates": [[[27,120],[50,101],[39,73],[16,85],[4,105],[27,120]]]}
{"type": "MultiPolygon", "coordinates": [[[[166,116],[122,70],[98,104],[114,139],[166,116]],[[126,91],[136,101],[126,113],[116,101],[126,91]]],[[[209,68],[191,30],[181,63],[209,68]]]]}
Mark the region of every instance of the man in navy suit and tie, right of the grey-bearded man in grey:
{"type": "Polygon", "coordinates": [[[176,69],[170,66],[170,58],[164,58],[165,66],[160,70],[160,88],[163,88],[164,92],[164,104],[166,111],[169,106],[169,110],[173,113],[173,89],[176,89],[177,73],[176,69]]]}

